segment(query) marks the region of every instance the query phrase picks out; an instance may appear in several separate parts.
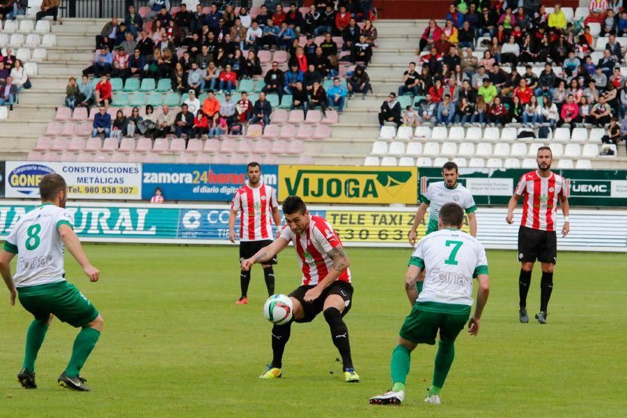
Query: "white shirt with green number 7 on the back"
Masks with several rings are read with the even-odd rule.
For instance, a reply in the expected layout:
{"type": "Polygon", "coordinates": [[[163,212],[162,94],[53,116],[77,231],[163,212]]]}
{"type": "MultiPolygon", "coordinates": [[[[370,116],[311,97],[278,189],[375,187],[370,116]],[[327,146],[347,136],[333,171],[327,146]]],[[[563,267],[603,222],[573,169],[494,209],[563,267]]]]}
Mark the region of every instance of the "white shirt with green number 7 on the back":
{"type": "Polygon", "coordinates": [[[435,307],[436,311],[470,312],[472,279],[488,274],[483,245],[458,229],[441,229],[420,240],[410,265],[426,270],[417,302],[435,307]]]}

